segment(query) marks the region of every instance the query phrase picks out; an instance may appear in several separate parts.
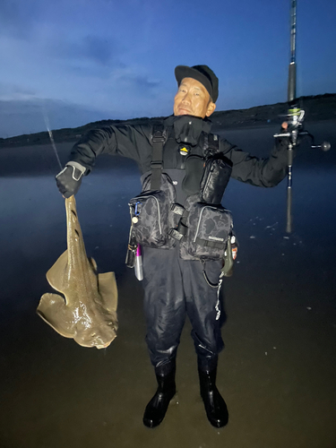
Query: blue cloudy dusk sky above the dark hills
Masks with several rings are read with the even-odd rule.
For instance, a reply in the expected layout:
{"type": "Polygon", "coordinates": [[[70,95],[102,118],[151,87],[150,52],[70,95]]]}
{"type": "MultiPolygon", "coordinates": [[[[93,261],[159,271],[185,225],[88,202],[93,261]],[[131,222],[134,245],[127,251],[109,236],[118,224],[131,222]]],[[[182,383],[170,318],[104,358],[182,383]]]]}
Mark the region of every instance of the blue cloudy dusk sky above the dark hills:
{"type": "MultiPolygon", "coordinates": [[[[217,110],[285,101],[289,0],[0,0],[0,137],[168,116],[176,65],[217,110]]],[[[297,96],[336,92],[336,1],[297,0],[297,96]]]]}

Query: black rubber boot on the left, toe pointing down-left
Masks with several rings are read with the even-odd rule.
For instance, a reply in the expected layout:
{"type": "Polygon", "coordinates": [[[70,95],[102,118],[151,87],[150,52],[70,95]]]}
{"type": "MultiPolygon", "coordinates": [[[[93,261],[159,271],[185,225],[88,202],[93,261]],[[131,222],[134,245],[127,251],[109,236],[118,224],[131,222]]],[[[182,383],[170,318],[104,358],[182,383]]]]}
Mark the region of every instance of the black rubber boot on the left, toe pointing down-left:
{"type": "Polygon", "coordinates": [[[143,425],[148,427],[159,426],[165,418],[169,401],[177,392],[175,384],[176,362],[171,360],[164,366],[155,367],[158,390],[146,406],[143,414],[143,425]]]}

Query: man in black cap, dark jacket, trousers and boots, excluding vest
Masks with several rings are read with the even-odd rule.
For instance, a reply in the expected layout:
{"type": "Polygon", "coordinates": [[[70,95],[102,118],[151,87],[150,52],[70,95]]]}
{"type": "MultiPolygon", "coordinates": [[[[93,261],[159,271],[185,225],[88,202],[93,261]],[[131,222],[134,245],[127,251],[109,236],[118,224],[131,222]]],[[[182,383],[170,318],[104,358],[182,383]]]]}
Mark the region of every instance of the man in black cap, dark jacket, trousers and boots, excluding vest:
{"type": "MultiPolygon", "coordinates": [[[[178,90],[174,115],[162,121],[165,143],[161,162],[162,172],[168,174],[175,185],[176,202],[184,205],[187,198],[200,191],[207,145],[216,140],[210,134],[208,117],[216,108],[219,84],[207,65],[178,65],[175,74],[178,90]],[[201,165],[190,162],[197,158],[202,161],[201,165]]],[[[116,125],[90,131],[74,145],[71,161],[56,177],[60,192],[65,197],[76,194],[83,175],[90,173],[96,157],[102,153],[134,159],[142,175],[153,173],[152,133],[151,125],[116,125]]],[[[225,155],[232,166],[232,177],[257,186],[277,185],[285,177],[286,149],[286,144],[280,142],[268,159],[257,159],[224,139],[218,143],[218,152],[225,155]]],[[[143,423],[149,427],[158,426],[176,393],[177,346],[188,315],[193,326],[206,414],[212,426],[225,426],[228,409],[215,384],[223,341],[219,290],[214,285],[220,279],[222,261],[200,263],[196,257],[183,253],[181,247],[178,241],[165,249],[142,247],[146,342],[158,382],[157,392],[145,409],[143,423]]]]}

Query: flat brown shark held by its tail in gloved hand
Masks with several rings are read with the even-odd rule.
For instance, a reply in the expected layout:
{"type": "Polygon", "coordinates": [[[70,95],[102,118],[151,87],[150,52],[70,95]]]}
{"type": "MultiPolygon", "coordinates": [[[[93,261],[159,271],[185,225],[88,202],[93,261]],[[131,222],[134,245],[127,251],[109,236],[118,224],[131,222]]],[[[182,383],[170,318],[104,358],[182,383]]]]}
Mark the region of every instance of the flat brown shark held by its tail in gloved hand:
{"type": "Polygon", "coordinates": [[[37,313],[61,336],[105,349],[117,331],[115,273],[98,274],[96,262],[87,257],[74,196],[65,199],[65,210],[67,250],[47,271],[48,283],[64,297],[44,294],[37,313]]]}

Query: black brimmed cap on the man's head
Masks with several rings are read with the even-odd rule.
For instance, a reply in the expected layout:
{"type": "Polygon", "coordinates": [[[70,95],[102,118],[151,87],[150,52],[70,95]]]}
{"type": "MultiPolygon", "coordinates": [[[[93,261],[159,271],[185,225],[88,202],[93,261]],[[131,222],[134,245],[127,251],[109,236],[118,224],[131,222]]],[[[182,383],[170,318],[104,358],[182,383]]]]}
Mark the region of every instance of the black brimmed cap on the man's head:
{"type": "Polygon", "coordinates": [[[177,85],[180,85],[184,78],[193,78],[201,82],[208,90],[212,101],[215,103],[218,99],[218,78],[208,65],[194,65],[193,67],[177,65],[175,77],[177,78],[177,85]]]}

